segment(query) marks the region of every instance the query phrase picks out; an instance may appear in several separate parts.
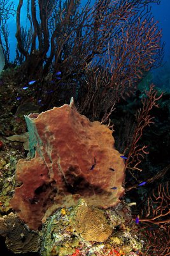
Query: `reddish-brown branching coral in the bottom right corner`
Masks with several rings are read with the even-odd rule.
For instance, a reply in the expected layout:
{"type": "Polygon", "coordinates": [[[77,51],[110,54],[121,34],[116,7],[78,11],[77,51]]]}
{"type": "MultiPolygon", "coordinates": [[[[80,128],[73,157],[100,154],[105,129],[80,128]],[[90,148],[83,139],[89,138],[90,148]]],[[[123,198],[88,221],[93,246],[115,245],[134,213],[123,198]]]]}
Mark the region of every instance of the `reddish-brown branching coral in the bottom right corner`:
{"type": "Polygon", "coordinates": [[[153,189],[147,205],[141,211],[141,228],[147,239],[144,255],[168,256],[170,253],[170,193],[169,182],[153,189]]]}

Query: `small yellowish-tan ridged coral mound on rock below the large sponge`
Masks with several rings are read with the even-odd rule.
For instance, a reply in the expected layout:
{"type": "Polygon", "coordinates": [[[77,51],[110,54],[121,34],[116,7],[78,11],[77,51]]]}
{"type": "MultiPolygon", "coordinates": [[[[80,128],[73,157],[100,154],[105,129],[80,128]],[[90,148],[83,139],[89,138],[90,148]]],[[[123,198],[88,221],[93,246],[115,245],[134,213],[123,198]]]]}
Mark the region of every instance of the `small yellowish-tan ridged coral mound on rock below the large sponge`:
{"type": "Polygon", "coordinates": [[[103,242],[111,235],[112,229],[103,211],[88,207],[85,200],[79,200],[74,214],[74,228],[86,241],[103,242]]]}

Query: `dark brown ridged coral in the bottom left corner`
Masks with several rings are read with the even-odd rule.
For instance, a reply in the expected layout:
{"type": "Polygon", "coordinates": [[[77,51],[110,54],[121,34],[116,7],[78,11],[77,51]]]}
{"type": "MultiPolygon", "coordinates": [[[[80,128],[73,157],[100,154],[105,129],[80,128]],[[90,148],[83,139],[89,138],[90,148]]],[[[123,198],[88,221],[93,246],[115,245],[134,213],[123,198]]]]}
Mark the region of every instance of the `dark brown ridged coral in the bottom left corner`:
{"type": "Polygon", "coordinates": [[[39,250],[38,233],[30,231],[12,212],[0,218],[0,235],[6,237],[6,246],[14,253],[39,250]]]}

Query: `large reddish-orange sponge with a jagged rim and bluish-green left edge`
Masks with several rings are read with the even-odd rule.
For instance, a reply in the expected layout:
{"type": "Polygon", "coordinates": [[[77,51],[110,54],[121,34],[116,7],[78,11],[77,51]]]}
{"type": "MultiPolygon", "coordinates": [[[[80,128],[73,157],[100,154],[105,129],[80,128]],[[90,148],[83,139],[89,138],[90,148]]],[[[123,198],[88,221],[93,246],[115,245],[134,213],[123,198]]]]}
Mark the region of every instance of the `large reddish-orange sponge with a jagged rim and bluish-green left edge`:
{"type": "Polygon", "coordinates": [[[106,125],[90,122],[73,104],[25,119],[30,152],[36,148],[36,154],[18,161],[16,177],[22,185],[11,207],[30,228],[41,227],[53,210],[75,205],[75,198],[103,208],[120,202],[124,159],[106,125]]]}

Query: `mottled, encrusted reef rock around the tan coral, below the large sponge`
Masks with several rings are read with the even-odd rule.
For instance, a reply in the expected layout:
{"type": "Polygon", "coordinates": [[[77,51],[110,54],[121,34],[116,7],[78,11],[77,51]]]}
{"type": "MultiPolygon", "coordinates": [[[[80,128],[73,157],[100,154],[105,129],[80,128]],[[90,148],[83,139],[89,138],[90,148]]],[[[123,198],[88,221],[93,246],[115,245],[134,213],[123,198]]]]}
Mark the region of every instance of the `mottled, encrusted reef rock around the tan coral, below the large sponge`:
{"type": "MultiPolygon", "coordinates": [[[[85,215],[87,211],[86,202],[84,200],[80,200],[78,205],[74,207],[57,209],[57,211],[46,220],[41,230],[41,256],[141,255],[145,242],[138,232],[138,227],[136,227],[134,221],[132,221],[131,211],[128,205],[119,203],[115,207],[107,210],[97,209],[100,211],[102,218],[106,216],[104,217],[104,225],[106,223],[105,221],[107,221],[107,225],[113,228],[112,234],[107,237],[108,239],[102,242],[87,241],[87,239],[82,237],[82,233],[80,234],[79,230],[77,230],[77,223],[73,220],[81,205],[83,205],[80,214],[81,219],[81,216],[85,215]],[[117,224],[117,226],[114,226],[115,224],[117,224]]],[[[95,213],[95,211],[93,213],[95,213]]],[[[99,213],[96,211],[96,217],[97,214],[99,213]]],[[[99,221],[99,219],[97,221],[99,221]]],[[[88,222],[89,220],[87,220],[87,223],[88,222]]],[[[87,225],[86,223],[83,224],[87,225]]],[[[94,230],[90,234],[91,237],[94,236],[95,232],[98,232],[96,226],[91,223],[91,228],[93,227],[94,230]]],[[[102,232],[103,231],[101,231],[101,236],[102,232]]]]}

